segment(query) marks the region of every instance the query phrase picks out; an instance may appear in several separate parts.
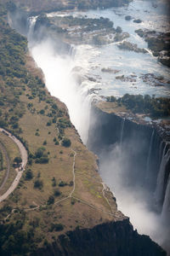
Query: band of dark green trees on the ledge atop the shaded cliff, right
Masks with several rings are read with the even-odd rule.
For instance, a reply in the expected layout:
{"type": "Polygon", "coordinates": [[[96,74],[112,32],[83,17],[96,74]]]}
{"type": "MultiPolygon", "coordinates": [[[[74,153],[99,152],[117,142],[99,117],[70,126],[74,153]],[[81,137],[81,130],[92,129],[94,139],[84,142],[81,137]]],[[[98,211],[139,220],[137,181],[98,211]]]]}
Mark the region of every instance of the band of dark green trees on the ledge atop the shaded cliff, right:
{"type": "Polygon", "coordinates": [[[156,118],[170,115],[170,99],[165,97],[125,94],[118,99],[108,96],[106,100],[107,102],[116,102],[118,106],[123,105],[133,113],[146,113],[156,118]]]}

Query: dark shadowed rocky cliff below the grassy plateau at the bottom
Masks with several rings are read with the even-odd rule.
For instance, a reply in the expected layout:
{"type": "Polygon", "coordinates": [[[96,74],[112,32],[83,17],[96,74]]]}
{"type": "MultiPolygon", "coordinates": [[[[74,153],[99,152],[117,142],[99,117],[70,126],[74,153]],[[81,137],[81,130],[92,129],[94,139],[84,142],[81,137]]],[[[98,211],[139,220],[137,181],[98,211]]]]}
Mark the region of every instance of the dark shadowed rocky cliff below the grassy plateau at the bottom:
{"type": "Polygon", "coordinates": [[[92,230],[75,230],[59,236],[58,241],[39,249],[34,255],[166,255],[161,247],[133,231],[128,219],[95,226],[92,230]]]}

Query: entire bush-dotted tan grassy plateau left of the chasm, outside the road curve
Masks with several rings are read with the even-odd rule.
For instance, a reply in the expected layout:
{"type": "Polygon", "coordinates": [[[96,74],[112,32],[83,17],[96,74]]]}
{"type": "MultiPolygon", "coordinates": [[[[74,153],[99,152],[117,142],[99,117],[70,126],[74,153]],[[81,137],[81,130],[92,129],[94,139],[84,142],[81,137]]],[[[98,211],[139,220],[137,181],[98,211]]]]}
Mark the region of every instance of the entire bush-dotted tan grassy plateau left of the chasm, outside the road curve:
{"type": "MultiPolygon", "coordinates": [[[[26,172],[31,169],[33,178],[26,180],[22,177],[18,188],[0,205],[0,219],[5,221],[0,225],[0,233],[3,234],[0,241],[1,253],[23,255],[31,249],[47,244],[47,241],[54,241],[59,234],[74,230],[77,226],[90,228],[95,224],[113,220],[113,216],[108,212],[111,212],[111,206],[112,211],[116,212],[116,204],[111,195],[108,197],[111,206],[105,200],[101,178],[96,172],[94,154],[88,152],[77,131],[70,125],[64,104],[49,96],[48,91],[43,88],[42,73],[34,67],[31,57],[26,54],[26,38],[20,37],[8,27],[5,22],[5,10],[3,6],[0,8],[0,44],[3,49],[0,67],[0,100],[3,102],[0,123],[21,137],[29,149],[30,156],[35,154],[37,148],[43,146],[49,159],[48,164],[37,164],[31,157],[26,172]],[[8,44],[10,45],[7,47],[8,44]],[[57,108],[54,108],[56,105],[57,108]],[[44,113],[41,114],[39,111],[42,109],[44,113]],[[65,119],[69,125],[64,126],[69,127],[59,129],[58,132],[55,122],[47,126],[54,117],[58,124],[59,119],[65,119]],[[59,133],[60,136],[70,138],[71,147],[55,145],[54,137],[59,140],[59,133]],[[46,145],[42,145],[44,141],[46,145]],[[76,189],[73,193],[77,200],[68,198],[56,204],[73,189],[73,186],[68,185],[73,180],[72,150],[77,152],[76,189]],[[56,179],[55,187],[52,185],[53,177],[56,179]],[[42,181],[42,189],[34,188],[37,179],[42,181]],[[59,187],[61,180],[67,185],[59,187]],[[59,189],[61,194],[54,197],[55,203],[48,204],[48,197],[54,195],[54,189],[59,189]],[[53,224],[61,224],[63,230],[54,230],[53,224]],[[13,231],[10,231],[11,229],[13,231]]],[[[118,218],[122,218],[121,213],[118,218]]]]}

